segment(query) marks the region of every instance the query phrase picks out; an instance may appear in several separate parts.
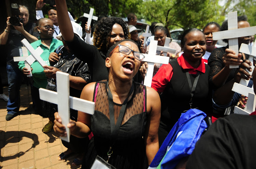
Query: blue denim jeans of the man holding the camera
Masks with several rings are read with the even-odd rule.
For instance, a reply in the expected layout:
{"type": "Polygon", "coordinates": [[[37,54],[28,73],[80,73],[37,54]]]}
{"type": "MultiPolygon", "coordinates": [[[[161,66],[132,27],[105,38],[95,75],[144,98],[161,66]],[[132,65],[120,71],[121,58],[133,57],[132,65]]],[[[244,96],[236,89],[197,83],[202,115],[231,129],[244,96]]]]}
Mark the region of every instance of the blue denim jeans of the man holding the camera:
{"type": "Polygon", "coordinates": [[[17,113],[19,113],[19,89],[22,84],[23,74],[17,67],[9,64],[6,65],[6,70],[9,84],[9,100],[7,102],[7,111],[8,114],[16,115],[17,113]]]}

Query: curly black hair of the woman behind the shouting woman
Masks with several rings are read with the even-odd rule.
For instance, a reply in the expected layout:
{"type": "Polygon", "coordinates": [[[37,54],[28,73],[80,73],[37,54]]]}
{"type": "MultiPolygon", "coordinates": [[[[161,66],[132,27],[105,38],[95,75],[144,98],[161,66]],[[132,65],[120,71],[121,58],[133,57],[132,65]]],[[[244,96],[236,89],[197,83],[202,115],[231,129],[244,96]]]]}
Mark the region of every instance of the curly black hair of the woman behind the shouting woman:
{"type": "Polygon", "coordinates": [[[110,34],[114,24],[119,24],[122,26],[125,39],[130,39],[130,33],[126,22],[122,18],[117,17],[105,17],[102,18],[96,25],[94,31],[94,45],[103,51],[108,51],[111,47],[109,46],[110,34]]]}

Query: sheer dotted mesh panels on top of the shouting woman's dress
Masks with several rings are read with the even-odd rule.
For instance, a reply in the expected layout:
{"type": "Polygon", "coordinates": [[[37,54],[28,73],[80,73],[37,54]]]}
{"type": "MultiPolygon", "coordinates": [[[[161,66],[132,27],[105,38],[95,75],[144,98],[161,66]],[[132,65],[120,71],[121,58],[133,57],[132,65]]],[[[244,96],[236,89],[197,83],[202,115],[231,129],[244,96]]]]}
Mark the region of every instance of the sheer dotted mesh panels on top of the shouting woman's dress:
{"type": "MultiPolygon", "coordinates": [[[[144,93],[143,86],[135,84],[134,85],[134,93],[131,100],[128,101],[126,105],[125,115],[122,121],[122,125],[126,123],[132,116],[136,114],[140,114],[144,112],[144,93]]],[[[120,109],[122,105],[114,103],[114,116],[115,123],[117,121],[117,117],[120,113],[120,109]]],[[[99,83],[98,92],[95,100],[95,110],[102,112],[106,117],[110,119],[109,116],[109,101],[108,94],[106,92],[106,83],[99,83]]]]}

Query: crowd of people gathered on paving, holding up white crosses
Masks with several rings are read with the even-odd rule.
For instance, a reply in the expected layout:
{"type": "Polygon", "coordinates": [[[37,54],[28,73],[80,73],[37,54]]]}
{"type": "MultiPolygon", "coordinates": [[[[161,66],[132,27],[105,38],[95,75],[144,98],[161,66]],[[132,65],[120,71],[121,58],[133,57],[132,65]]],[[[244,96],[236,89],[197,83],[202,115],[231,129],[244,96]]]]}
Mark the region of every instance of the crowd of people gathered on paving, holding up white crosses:
{"type": "MultiPolygon", "coordinates": [[[[199,109],[211,117],[214,124],[199,140],[193,154],[182,161],[181,168],[185,168],[186,163],[187,168],[207,168],[208,161],[218,164],[216,168],[222,168],[224,160],[229,162],[225,168],[241,168],[245,164],[250,168],[254,165],[254,162],[244,162],[250,146],[236,143],[236,140],[254,133],[239,134],[243,125],[236,123],[241,120],[252,125],[255,118],[242,115],[221,118],[233,114],[234,106],[245,108],[248,98],[231,89],[241,78],[251,79],[249,86],[253,86],[248,72],[253,71],[251,65],[255,64],[248,60],[249,55],[236,54],[228,45],[216,47],[213,32],[228,30],[227,21],[221,26],[209,22],[202,30],[185,30],[181,45],[171,40],[169,48],[176,52],[167,53],[168,64],[155,63],[152,87],[146,87],[143,79],[148,64],[143,61],[144,54],[150,49],[150,41],[156,40],[158,46],[164,46],[166,38],[170,37],[167,27],[162,23],[152,23],[152,36],[144,41],[144,37],[138,36],[143,30],[136,27],[137,16],[130,13],[128,22],[122,18],[103,17],[94,30],[85,24],[83,31],[68,12],[66,0],[55,2],[56,8],[50,9],[48,18],[44,18],[41,9],[45,3],[37,1],[36,23],[29,21],[28,8],[20,5],[19,16],[23,22],[19,26],[12,25],[8,17],[6,28],[0,34],[1,45],[6,45],[7,51],[9,98],[0,91],[0,98],[8,101],[6,120],[20,114],[19,89],[23,78],[27,78],[31,81],[34,111],[49,118],[42,131],[48,133],[54,129],[60,136],[67,136],[66,127],[70,128],[70,142],[62,140],[68,149],[59,155],[58,160],[76,153],[72,166],[82,164],[82,168],[90,169],[98,160],[102,165],[117,169],[146,169],[173,126],[177,126],[175,124],[181,115],[189,109],[199,109]],[[83,32],[86,32],[85,37],[83,32]],[[40,56],[46,65],[42,67],[35,61],[30,71],[24,61],[14,62],[13,57],[22,56],[20,41],[24,38],[34,49],[42,49],[40,56]],[[239,68],[229,68],[234,64],[239,68]],[[40,100],[39,88],[57,91],[57,85],[60,85],[56,83],[58,71],[69,74],[71,96],[95,102],[93,115],[70,109],[70,123],[64,126],[57,105],[40,100]],[[32,77],[26,77],[30,74],[32,77]],[[232,125],[236,128],[230,127],[232,125]],[[221,137],[234,141],[228,152],[222,145],[228,144],[228,140],[219,140],[221,137]],[[218,154],[208,143],[217,146],[218,154]],[[213,158],[211,154],[204,155],[208,152],[213,158]],[[232,159],[227,159],[229,155],[232,159]]],[[[243,27],[250,27],[250,24],[246,16],[239,16],[238,28],[243,27]]],[[[239,48],[242,43],[253,44],[253,39],[254,36],[238,38],[239,48]]],[[[224,41],[228,42],[228,39],[224,41]]],[[[163,56],[163,51],[156,51],[156,55],[163,56]]],[[[244,129],[247,128],[249,130],[248,126],[244,129]]],[[[253,145],[253,141],[248,139],[248,144],[253,145]]]]}

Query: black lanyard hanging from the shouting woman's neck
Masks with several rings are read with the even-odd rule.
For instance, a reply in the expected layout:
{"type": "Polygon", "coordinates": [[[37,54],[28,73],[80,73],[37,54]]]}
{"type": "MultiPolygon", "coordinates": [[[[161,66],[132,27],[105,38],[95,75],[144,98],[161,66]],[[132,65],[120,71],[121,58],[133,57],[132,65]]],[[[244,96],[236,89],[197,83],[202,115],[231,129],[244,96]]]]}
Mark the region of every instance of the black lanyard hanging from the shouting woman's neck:
{"type": "Polygon", "coordinates": [[[133,90],[134,90],[134,85],[133,85],[133,82],[132,82],[132,86],[131,86],[131,89],[130,89],[130,92],[129,92],[129,95],[128,97],[125,99],[123,105],[122,105],[122,108],[120,110],[120,114],[117,118],[117,121],[116,121],[116,125],[115,125],[115,117],[114,117],[114,102],[113,102],[113,96],[112,96],[112,93],[109,89],[109,81],[107,82],[107,88],[108,88],[108,97],[109,97],[109,116],[110,116],[110,128],[111,128],[111,135],[112,137],[114,138],[117,138],[117,134],[118,134],[118,131],[119,131],[119,128],[122,124],[122,121],[123,121],[123,118],[124,118],[124,114],[125,114],[125,108],[126,108],[126,105],[127,105],[127,101],[128,101],[128,98],[129,96],[132,94],[133,90]]]}

